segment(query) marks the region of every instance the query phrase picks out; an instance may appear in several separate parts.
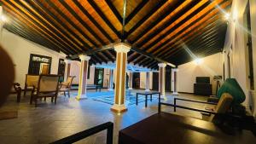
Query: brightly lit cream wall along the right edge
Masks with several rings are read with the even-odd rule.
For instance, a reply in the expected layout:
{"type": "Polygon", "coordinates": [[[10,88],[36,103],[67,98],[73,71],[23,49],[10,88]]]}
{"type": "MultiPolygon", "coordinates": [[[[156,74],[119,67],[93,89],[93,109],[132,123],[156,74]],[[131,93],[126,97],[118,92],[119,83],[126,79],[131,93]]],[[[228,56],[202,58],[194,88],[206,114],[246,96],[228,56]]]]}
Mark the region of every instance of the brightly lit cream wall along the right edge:
{"type": "MultiPolygon", "coordinates": [[[[233,0],[231,8],[231,20],[228,25],[228,31],[226,33],[226,39],[224,44],[224,63],[225,70],[228,72],[227,55],[230,53],[230,69],[231,78],[236,78],[237,82],[241,85],[241,88],[245,92],[247,99],[243,102],[243,105],[248,107],[248,57],[247,57],[247,35],[245,24],[245,9],[247,6],[247,0],[233,0]],[[231,49],[232,47],[232,49],[231,49]]],[[[253,75],[254,85],[256,86],[256,1],[250,0],[250,15],[251,15],[251,33],[253,43],[253,75]]],[[[227,75],[228,73],[226,73],[227,75]]]]}

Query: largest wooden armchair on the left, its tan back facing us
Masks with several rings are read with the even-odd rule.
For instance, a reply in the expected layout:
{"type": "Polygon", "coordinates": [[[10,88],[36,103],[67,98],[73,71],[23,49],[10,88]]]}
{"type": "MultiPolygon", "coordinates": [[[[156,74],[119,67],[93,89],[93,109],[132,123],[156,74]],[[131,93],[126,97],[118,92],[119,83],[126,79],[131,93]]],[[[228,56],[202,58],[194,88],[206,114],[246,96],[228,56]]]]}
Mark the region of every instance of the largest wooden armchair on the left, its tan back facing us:
{"type": "Polygon", "coordinates": [[[30,104],[32,104],[32,101],[35,101],[35,107],[37,107],[38,98],[43,97],[51,97],[51,102],[55,100],[56,104],[59,91],[59,79],[59,75],[40,75],[37,88],[34,87],[32,90],[30,104]]]}

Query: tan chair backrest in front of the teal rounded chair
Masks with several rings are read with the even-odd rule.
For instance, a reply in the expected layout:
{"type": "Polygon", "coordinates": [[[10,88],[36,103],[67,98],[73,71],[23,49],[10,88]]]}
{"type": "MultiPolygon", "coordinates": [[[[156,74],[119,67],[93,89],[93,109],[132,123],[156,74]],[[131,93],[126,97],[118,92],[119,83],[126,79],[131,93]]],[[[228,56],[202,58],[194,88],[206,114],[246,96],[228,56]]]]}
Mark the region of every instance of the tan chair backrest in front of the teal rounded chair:
{"type": "MultiPolygon", "coordinates": [[[[218,104],[215,108],[215,112],[217,113],[225,113],[230,109],[230,105],[233,101],[233,96],[231,96],[228,93],[224,93],[223,95],[221,95],[218,104]]],[[[211,115],[211,117],[209,118],[209,121],[212,121],[212,119],[215,117],[215,115],[211,115]]]]}

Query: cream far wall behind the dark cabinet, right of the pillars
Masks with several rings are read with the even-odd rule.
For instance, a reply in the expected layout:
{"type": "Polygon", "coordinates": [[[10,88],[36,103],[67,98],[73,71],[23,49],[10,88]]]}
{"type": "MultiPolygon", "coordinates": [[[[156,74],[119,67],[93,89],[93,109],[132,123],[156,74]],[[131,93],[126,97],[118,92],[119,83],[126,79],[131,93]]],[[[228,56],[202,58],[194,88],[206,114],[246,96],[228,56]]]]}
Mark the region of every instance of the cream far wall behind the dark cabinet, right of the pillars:
{"type": "Polygon", "coordinates": [[[203,58],[200,65],[194,61],[177,66],[177,91],[194,93],[196,77],[210,77],[213,94],[216,89],[216,82],[212,81],[213,76],[223,75],[223,57],[221,53],[203,58]]]}

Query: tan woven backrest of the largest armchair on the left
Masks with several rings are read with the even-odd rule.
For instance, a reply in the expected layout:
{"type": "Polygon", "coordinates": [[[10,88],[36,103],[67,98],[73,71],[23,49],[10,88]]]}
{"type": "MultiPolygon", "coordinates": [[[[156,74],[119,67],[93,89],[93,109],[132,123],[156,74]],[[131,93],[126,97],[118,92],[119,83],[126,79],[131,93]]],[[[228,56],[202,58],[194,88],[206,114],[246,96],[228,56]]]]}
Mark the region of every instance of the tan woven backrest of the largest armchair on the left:
{"type": "Polygon", "coordinates": [[[59,87],[59,75],[40,75],[38,81],[38,93],[57,92],[59,87]]]}

